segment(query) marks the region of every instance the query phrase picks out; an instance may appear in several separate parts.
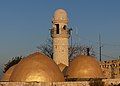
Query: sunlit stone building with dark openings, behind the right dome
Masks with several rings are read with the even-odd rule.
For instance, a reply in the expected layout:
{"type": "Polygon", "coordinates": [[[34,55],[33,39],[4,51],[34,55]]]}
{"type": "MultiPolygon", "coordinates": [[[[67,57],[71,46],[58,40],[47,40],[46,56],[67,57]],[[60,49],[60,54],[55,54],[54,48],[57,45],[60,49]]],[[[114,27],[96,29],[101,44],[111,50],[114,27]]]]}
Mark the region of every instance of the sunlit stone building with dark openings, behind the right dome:
{"type": "Polygon", "coordinates": [[[120,59],[101,61],[100,67],[107,79],[120,78],[120,59]]]}

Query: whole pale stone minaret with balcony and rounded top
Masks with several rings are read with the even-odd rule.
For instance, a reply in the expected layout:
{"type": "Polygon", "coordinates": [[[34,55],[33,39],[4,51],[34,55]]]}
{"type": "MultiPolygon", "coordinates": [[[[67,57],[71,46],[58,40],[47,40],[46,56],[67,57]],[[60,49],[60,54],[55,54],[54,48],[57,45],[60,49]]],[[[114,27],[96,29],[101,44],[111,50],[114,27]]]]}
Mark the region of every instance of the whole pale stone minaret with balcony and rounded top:
{"type": "Polygon", "coordinates": [[[51,37],[53,40],[53,60],[57,65],[68,66],[68,40],[70,30],[68,29],[67,12],[63,9],[55,11],[52,20],[51,37]]]}

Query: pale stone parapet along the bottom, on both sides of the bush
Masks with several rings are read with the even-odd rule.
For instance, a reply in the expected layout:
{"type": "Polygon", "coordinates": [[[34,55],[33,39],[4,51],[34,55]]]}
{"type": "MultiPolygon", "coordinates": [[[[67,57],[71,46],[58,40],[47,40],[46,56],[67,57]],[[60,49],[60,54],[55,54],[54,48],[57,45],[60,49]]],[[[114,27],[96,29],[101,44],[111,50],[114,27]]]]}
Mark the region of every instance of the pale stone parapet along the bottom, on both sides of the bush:
{"type": "MultiPolygon", "coordinates": [[[[104,86],[120,85],[120,79],[103,79],[104,86]]],[[[0,86],[90,86],[89,81],[76,82],[0,82],[0,86]]]]}

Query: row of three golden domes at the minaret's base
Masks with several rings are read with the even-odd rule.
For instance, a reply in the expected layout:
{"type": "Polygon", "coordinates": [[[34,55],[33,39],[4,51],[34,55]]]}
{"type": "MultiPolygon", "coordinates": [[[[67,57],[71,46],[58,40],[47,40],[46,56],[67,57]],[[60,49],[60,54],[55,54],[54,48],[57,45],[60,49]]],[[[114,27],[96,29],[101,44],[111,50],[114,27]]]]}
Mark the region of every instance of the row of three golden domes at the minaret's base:
{"type": "MultiPolygon", "coordinates": [[[[94,57],[80,55],[66,70],[68,78],[102,78],[99,63],[94,57]]],[[[63,82],[63,73],[49,57],[36,52],[23,58],[17,65],[9,68],[2,81],[63,82]]]]}

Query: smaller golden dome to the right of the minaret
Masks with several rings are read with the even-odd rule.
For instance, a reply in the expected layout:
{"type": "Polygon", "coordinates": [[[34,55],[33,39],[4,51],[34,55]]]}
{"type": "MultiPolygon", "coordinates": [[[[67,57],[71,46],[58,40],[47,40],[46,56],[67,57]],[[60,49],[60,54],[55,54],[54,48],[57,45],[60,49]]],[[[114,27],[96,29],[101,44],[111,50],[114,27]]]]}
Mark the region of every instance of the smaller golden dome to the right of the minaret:
{"type": "Polygon", "coordinates": [[[99,62],[95,57],[80,55],[67,69],[68,78],[103,78],[99,62]]]}

